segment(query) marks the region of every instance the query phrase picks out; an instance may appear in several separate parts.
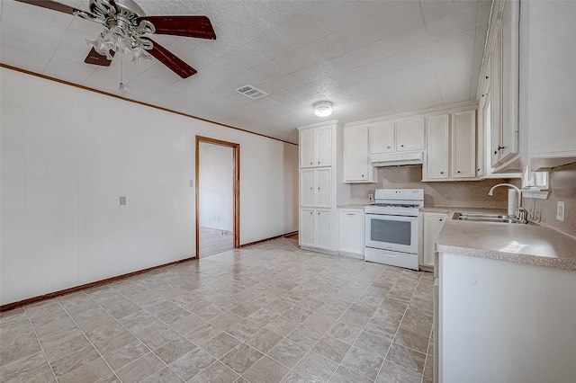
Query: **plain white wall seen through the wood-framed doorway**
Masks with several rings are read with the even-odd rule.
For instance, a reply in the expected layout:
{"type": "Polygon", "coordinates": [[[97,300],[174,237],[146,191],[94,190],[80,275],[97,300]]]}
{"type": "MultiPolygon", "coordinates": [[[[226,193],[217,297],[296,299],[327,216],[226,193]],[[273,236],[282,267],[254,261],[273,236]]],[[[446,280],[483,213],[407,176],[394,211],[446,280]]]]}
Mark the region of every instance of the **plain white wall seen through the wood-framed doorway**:
{"type": "Polygon", "coordinates": [[[234,228],[234,149],[200,143],[200,226],[234,228]]]}

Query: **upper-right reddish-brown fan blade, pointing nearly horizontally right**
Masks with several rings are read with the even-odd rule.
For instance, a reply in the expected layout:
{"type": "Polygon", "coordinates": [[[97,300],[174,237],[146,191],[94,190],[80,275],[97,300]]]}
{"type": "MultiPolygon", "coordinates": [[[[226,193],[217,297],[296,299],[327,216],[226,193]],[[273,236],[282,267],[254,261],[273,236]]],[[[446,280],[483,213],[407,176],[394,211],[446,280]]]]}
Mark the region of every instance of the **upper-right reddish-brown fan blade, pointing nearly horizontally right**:
{"type": "Polygon", "coordinates": [[[152,22],[156,34],[216,40],[216,33],[207,16],[144,16],[137,19],[140,20],[152,22]]]}

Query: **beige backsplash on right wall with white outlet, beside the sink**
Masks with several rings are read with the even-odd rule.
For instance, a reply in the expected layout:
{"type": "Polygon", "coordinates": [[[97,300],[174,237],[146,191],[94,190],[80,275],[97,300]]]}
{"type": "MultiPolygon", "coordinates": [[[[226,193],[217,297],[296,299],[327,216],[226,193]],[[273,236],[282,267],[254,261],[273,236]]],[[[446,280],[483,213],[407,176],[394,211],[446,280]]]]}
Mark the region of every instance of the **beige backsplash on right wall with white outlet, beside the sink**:
{"type": "Polygon", "coordinates": [[[576,236],[576,163],[554,167],[550,174],[551,192],[547,200],[525,198],[523,206],[541,216],[541,223],[576,236]],[[564,221],[556,219],[558,201],[564,202],[564,221]]]}

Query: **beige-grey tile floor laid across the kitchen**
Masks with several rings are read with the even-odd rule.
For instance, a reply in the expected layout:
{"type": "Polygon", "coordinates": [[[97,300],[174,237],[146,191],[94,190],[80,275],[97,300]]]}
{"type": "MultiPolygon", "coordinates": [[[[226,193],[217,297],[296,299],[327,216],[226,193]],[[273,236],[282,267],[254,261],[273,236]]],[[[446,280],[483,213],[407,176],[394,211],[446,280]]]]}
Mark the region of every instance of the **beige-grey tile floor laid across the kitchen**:
{"type": "Polygon", "coordinates": [[[428,383],[432,294],[280,238],[0,314],[0,380],[428,383]]]}

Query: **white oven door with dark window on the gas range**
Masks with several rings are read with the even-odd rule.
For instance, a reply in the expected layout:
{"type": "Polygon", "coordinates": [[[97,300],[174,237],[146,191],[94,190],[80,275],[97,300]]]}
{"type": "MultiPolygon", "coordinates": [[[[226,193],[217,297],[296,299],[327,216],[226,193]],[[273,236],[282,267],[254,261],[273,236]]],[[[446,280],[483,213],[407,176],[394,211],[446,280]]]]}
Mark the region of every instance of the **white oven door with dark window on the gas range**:
{"type": "Polygon", "coordinates": [[[366,214],[366,247],[402,253],[419,252],[419,218],[366,214]]]}

